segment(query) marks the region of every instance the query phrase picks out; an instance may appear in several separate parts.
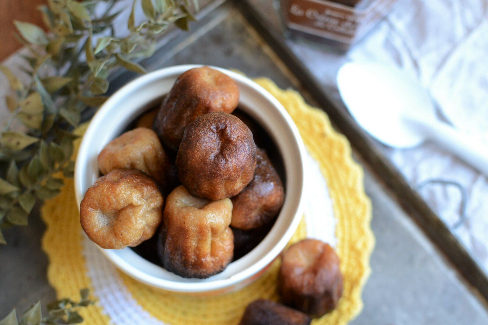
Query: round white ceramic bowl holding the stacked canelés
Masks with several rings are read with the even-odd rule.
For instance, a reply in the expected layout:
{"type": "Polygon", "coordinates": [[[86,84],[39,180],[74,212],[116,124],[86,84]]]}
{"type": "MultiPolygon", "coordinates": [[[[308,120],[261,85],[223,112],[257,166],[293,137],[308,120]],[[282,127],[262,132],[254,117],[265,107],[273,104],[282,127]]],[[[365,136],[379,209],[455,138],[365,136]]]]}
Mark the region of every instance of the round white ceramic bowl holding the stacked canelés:
{"type": "MultiPolygon", "coordinates": [[[[75,191],[78,205],[85,191],[99,177],[97,156],[134,119],[167,94],[176,78],[197,65],[179,65],[141,76],[118,90],[90,122],[76,160],[75,191]]],[[[285,203],[264,240],[239,260],[207,279],[185,279],[154,265],[132,249],[101,249],[123,272],[150,286],[193,294],[217,294],[243,287],[256,280],[285,248],[303,213],[305,147],[298,130],[283,106],[249,78],[218,69],[237,81],[239,107],[271,136],[280,151],[286,177],[285,203]]],[[[93,244],[95,245],[95,244],[93,244]]]]}

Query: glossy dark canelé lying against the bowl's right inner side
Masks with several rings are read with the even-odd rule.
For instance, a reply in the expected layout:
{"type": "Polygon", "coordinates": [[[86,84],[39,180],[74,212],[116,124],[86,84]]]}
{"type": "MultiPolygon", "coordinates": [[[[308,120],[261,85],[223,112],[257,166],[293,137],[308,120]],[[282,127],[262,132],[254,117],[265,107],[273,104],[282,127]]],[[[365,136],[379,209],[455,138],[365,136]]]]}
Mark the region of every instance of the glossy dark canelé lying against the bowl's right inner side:
{"type": "Polygon", "coordinates": [[[266,152],[258,149],[252,181],[232,198],[231,226],[243,230],[261,227],[280,212],[285,191],[266,152]]]}

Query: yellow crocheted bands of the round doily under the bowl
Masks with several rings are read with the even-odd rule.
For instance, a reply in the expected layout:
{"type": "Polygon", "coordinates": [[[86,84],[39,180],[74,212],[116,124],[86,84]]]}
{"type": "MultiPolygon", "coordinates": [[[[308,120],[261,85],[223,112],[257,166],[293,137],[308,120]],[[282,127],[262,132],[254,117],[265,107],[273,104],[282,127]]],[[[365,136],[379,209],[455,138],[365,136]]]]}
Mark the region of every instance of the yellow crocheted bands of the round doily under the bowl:
{"type": "MultiPolygon", "coordinates": [[[[292,90],[281,90],[271,80],[255,80],[286,108],[305,146],[319,163],[327,182],[337,219],[337,253],[344,275],[344,292],[337,308],[313,324],[347,324],[363,308],[361,292],[370,272],[369,256],[374,237],[370,229],[371,206],[363,187],[363,171],[351,157],[346,138],[336,133],[324,112],[308,106],[292,90]]],[[[83,256],[79,212],[72,180],[65,180],[61,194],[45,202],[42,217],[47,230],[42,247],[49,256],[47,277],[61,297],[78,298],[80,288],[93,288],[83,256]]],[[[292,241],[306,236],[301,222],[292,241]]],[[[155,318],[169,324],[237,324],[245,306],[257,298],[278,299],[279,261],[253,284],[217,297],[190,297],[162,292],[119,272],[132,297],[155,318]]],[[[92,290],[93,292],[93,290],[92,290]]],[[[96,297],[95,297],[96,298],[96,297]]],[[[101,306],[81,311],[85,324],[109,324],[101,306]]]]}

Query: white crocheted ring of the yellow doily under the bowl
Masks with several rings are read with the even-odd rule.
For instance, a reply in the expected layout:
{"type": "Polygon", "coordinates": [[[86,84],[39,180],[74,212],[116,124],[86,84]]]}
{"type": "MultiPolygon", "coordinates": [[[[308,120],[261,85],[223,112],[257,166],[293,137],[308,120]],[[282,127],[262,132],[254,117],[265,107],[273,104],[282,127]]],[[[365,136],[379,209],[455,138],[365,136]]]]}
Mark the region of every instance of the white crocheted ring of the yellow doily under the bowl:
{"type": "MultiPolygon", "coordinates": [[[[305,188],[308,189],[308,193],[305,195],[307,236],[321,239],[331,246],[335,246],[337,244],[336,220],[324,176],[318,163],[310,155],[307,155],[307,163],[305,178],[305,188]]],[[[110,317],[112,323],[116,325],[165,324],[138,305],[124,286],[116,268],[84,233],[82,235],[88,276],[92,281],[95,296],[99,299],[99,305],[110,317]]]]}

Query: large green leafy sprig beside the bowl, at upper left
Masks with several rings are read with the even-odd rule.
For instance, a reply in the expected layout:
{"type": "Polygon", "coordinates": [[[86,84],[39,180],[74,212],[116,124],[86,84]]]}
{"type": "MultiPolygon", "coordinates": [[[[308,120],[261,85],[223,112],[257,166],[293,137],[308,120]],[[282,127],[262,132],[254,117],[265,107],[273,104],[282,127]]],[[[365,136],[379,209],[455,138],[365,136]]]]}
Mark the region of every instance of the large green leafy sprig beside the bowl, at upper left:
{"type": "MultiPolygon", "coordinates": [[[[9,163],[0,178],[1,229],[27,225],[36,199],[49,199],[64,185],[58,177],[74,171],[72,141],[80,136],[78,126],[106,99],[109,72],[116,67],[144,73],[134,61],[155,51],[156,39],[172,23],[187,30],[195,20],[190,0],[141,0],[146,20],[135,22],[135,7],[127,21],[129,35],[117,37],[112,9],[119,0],[47,0],[42,5],[48,32],[26,22],[15,21],[19,40],[29,49],[23,58],[27,84],[7,67],[0,66],[12,93],[5,97],[10,118],[0,134],[0,161],[9,163]],[[97,7],[104,13],[97,14],[97,7]],[[47,76],[46,76],[47,75],[47,76]],[[26,132],[12,131],[18,120],[26,132]]],[[[198,1],[193,0],[198,10],[198,1]]]]}

